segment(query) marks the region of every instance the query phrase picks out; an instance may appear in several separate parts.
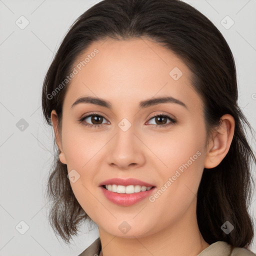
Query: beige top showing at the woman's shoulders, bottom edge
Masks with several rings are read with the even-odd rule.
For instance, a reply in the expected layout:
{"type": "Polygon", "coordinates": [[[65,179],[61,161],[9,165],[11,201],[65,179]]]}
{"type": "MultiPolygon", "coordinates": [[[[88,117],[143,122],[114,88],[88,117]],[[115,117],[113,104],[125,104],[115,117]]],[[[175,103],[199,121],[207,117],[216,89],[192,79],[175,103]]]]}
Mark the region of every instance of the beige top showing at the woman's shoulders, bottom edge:
{"type": "MultiPolygon", "coordinates": [[[[102,256],[100,238],[98,237],[78,256],[102,256]]],[[[256,256],[252,251],[235,247],[231,251],[231,245],[224,241],[217,241],[210,244],[196,256],[256,256]]]]}

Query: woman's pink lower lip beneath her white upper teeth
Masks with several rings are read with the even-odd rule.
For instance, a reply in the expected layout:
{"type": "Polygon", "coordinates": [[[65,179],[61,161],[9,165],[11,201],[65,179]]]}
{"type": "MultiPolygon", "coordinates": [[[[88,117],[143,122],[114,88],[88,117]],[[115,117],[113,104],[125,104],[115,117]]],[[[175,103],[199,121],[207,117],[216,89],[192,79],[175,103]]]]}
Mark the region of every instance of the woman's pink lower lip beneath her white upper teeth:
{"type": "Polygon", "coordinates": [[[149,196],[155,190],[155,188],[156,187],[152,187],[151,189],[146,191],[126,194],[126,193],[112,192],[107,190],[103,186],[100,186],[100,189],[102,190],[103,194],[108,200],[110,200],[115,204],[123,205],[123,206],[129,206],[143,200],[144,198],[149,196]]]}

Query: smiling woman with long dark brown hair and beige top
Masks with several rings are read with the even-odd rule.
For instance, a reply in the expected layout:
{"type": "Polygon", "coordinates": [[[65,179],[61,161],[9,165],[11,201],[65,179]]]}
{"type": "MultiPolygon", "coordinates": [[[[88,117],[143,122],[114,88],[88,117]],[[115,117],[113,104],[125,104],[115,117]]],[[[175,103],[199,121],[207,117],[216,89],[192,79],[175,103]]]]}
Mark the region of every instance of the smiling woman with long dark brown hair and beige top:
{"type": "Polygon", "coordinates": [[[64,37],[42,109],[58,149],[49,219],[80,255],[255,255],[232,53],[178,0],[103,0],[64,37]]]}

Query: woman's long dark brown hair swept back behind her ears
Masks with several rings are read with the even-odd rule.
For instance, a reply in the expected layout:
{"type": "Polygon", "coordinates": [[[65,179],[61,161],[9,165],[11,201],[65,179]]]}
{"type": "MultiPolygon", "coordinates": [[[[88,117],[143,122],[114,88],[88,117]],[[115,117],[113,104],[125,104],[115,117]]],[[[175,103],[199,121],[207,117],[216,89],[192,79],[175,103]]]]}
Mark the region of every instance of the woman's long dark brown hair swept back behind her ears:
{"type": "MultiPolygon", "coordinates": [[[[88,46],[108,37],[147,37],[175,52],[193,73],[192,86],[204,103],[207,134],[229,113],[235,128],[228,153],[214,168],[204,168],[197,193],[197,221],[204,240],[226,241],[248,247],[253,238],[248,207],[252,194],[250,168],[256,162],[247,141],[250,124],[237,104],[236,70],[231,50],[214,24],[192,6],[179,0],[102,0],[69,28],[46,73],[42,87],[42,110],[51,125],[56,110],[61,124],[62,103],[68,83],[57,91],[71,72],[74,61],[88,46]],[[58,87],[59,88],[59,87],[58,87]],[[229,221],[234,230],[226,234],[221,225],[229,221]]],[[[54,145],[56,146],[56,144],[54,145]]],[[[76,200],[67,168],[55,159],[49,174],[47,195],[52,201],[49,220],[56,234],[69,243],[83,220],[91,220],[76,200]]]]}

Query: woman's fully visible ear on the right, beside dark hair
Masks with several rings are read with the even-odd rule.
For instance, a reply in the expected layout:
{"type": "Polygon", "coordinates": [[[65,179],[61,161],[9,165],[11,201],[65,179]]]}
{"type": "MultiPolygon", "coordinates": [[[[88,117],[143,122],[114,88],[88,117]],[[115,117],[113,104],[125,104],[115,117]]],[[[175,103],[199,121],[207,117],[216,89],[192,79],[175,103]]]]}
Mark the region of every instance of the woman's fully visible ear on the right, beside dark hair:
{"type": "Polygon", "coordinates": [[[204,160],[204,168],[216,167],[227,154],[234,134],[234,118],[230,114],[221,116],[220,126],[213,132],[204,160]]]}

